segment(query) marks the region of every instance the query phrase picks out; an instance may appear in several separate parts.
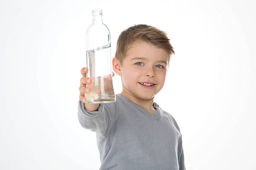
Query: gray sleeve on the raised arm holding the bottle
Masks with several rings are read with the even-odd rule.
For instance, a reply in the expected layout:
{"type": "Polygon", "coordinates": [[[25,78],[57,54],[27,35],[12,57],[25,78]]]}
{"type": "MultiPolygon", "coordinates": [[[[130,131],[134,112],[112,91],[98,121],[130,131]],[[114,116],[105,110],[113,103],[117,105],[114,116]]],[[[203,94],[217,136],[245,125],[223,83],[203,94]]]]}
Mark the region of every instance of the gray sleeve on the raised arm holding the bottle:
{"type": "Polygon", "coordinates": [[[78,120],[83,128],[96,132],[101,137],[108,135],[111,126],[116,118],[115,102],[100,103],[96,111],[89,111],[84,108],[84,103],[78,102],[78,120]]]}

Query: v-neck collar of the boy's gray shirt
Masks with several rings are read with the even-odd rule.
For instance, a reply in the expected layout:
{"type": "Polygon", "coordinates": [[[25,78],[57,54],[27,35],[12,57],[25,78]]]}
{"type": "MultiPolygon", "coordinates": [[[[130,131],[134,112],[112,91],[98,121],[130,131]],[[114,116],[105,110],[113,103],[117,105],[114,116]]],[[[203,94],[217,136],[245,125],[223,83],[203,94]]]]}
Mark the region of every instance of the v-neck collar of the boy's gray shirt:
{"type": "Polygon", "coordinates": [[[148,115],[149,117],[153,118],[153,119],[159,119],[160,117],[160,109],[159,109],[159,105],[156,102],[153,102],[152,106],[156,109],[156,112],[154,114],[152,114],[151,112],[148,112],[148,110],[146,110],[144,107],[138,105],[137,103],[133,102],[131,99],[129,99],[127,96],[122,95],[122,94],[116,94],[118,96],[120,96],[121,98],[127,100],[129,103],[135,105],[135,107],[142,109],[144,111],[144,113],[146,115],[148,115]]]}

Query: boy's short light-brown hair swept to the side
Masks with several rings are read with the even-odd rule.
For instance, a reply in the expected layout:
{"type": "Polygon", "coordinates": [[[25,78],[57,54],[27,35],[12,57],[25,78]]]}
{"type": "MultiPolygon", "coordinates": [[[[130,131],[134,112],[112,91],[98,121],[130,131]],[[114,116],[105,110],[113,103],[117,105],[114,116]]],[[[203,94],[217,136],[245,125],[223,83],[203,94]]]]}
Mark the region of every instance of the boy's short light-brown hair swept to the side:
{"type": "Polygon", "coordinates": [[[175,54],[166,33],[153,26],[138,24],[123,30],[117,40],[115,57],[123,65],[123,60],[131,45],[137,40],[144,40],[156,47],[164,49],[168,53],[168,68],[171,56],[175,54]]]}

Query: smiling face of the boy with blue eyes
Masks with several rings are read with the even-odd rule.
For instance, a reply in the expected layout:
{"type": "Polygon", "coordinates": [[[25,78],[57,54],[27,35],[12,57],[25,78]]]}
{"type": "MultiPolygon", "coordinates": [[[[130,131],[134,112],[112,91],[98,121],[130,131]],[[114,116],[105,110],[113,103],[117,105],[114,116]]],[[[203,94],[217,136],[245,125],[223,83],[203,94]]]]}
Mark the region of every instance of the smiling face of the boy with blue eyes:
{"type": "MultiPolygon", "coordinates": [[[[123,66],[115,72],[121,76],[123,90],[141,100],[149,100],[162,89],[167,72],[168,53],[151,43],[139,40],[129,48],[123,66]],[[143,57],[143,59],[136,59],[143,57]],[[164,63],[166,62],[166,63],[164,63]],[[152,82],[152,88],[139,82],[152,82]]],[[[115,66],[114,66],[115,67],[115,66]]]]}

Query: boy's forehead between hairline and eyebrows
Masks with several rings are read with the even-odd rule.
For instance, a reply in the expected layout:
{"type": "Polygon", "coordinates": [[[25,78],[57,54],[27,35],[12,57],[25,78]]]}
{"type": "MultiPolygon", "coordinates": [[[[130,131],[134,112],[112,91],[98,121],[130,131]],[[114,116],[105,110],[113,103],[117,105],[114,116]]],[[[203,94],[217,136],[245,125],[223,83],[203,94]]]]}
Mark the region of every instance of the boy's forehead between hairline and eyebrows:
{"type": "Polygon", "coordinates": [[[167,62],[168,53],[166,50],[156,47],[149,42],[137,40],[129,47],[127,56],[125,58],[126,60],[132,60],[133,58],[144,58],[150,60],[164,60],[167,62]]]}

